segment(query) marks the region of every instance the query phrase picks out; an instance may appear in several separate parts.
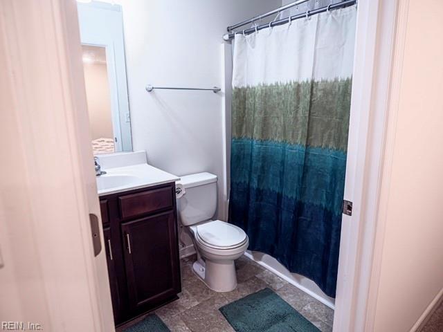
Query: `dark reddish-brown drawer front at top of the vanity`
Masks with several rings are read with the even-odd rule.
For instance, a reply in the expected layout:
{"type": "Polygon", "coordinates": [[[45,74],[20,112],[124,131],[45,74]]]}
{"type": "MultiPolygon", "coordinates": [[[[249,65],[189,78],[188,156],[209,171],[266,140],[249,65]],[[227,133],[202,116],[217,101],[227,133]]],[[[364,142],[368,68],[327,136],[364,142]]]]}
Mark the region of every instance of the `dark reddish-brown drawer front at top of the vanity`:
{"type": "Polygon", "coordinates": [[[172,187],[163,187],[138,194],[120,196],[118,200],[120,202],[122,218],[156,212],[172,208],[172,187]]]}

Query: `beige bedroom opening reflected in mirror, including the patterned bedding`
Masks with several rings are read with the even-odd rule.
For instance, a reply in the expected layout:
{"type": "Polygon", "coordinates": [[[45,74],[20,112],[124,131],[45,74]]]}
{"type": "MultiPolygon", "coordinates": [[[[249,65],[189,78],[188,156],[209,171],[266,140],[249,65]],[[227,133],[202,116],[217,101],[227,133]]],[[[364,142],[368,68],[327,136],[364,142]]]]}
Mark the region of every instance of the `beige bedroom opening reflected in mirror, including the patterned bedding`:
{"type": "Polygon", "coordinates": [[[106,48],[82,45],[84,85],[94,154],[115,152],[106,48]]]}

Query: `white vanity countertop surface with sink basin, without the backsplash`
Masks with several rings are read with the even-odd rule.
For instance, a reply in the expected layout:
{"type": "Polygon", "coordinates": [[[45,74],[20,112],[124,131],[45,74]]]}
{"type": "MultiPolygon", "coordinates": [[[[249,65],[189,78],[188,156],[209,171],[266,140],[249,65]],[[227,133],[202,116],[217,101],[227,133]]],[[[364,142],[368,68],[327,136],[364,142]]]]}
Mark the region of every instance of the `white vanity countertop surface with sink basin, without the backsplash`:
{"type": "Polygon", "coordinates": [[[180,178],[148,164],[102,168],[107,174],[97,176],[98,196],[125,192],[153,185],[179,181],[180,178]]]}

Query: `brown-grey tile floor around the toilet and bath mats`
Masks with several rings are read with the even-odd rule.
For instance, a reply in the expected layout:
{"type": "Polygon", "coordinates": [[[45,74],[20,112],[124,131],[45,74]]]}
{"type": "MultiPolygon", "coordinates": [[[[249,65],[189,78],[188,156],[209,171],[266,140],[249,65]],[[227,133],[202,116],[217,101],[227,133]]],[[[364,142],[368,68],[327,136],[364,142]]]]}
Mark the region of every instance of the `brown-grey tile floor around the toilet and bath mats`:
{"type": "MultiPolygon", "coordinates": [[[[192,273],[195,256],[181,260],[182,293],[177,301],[155,311],[172,332],[232,332],[233,328],[218,310],[221,306],[269,287],[304,315],[320,331],[332,331],[334,311],[303,293],[247,257],[235,262],[237,288],[230,293],[211,291],[192,273]]],[[[143,316],[144,317],[144,316],[143,316]]],[[[136,321],[142,320],[139,317],[136,321]]],[[[132,321],[131,324],[134,324],[132,321]]],[[[130,324],[121,326],[122,331],[130,324]]]]}

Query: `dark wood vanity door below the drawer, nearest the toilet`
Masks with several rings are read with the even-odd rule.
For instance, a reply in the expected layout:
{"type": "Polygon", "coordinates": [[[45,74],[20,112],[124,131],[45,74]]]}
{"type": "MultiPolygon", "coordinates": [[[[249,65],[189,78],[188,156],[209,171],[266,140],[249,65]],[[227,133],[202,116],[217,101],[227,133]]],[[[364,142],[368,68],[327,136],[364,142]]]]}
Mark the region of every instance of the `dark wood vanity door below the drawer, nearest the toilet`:
{"type": "Polygon", "coordinates": [[[129,307],[150,309],[181,291],[174,211],[122,226],[129,307]]]}

